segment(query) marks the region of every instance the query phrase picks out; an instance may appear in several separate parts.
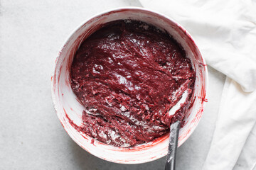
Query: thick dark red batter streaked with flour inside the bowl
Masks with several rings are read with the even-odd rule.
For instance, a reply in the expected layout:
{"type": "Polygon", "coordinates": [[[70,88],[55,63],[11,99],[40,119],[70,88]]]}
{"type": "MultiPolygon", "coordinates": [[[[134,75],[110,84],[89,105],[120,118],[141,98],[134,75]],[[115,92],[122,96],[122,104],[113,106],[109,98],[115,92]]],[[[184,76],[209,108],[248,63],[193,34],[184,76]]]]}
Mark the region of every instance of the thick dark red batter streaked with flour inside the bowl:
{"type": "Polygon", "coordinates": [[[195,77],[168,33],[140,21],[107,23],[82,42],[71,67],[72,89],[85,106],[79,130],[117,147],[161,137],[183,120],[195,77]],[[186,103],[169,115],[186,90],[186,103]]]}

